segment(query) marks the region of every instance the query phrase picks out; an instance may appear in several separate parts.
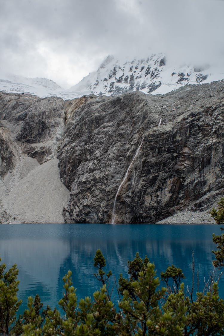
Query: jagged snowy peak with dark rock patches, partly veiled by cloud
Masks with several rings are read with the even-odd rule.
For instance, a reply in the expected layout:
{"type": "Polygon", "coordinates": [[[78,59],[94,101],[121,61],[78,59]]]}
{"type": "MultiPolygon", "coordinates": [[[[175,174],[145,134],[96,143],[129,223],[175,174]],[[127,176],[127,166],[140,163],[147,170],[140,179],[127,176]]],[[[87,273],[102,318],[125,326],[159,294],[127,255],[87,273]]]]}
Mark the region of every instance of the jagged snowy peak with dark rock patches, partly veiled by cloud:
{"type": "Polygon", "coordinates": [[[209,65],[173,66],[162,53],[125,62],[107,56],[96,72],[84,77],[70,90],[107,96],[132,91],[164,94],[186,84],[209,83],[223,78],[224,71],[209,65]]]}

